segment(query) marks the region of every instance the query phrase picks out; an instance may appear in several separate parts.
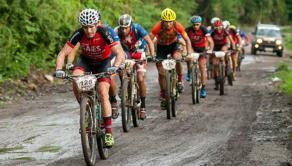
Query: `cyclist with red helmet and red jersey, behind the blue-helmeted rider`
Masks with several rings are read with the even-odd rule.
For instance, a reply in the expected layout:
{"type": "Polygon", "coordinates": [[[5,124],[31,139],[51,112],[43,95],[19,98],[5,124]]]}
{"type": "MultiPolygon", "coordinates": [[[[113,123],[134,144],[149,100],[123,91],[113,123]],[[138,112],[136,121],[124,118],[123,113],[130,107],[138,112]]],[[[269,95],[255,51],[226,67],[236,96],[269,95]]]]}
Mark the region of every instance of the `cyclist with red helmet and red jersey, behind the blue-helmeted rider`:
{"type": "MultiPolygon", "coordinates": [[[[212,25],[214,27],[211,37],[214,41],[214,51],[228,51],[228,47],[231,45],[231,48],[234,49],[234,42],[229,35],[228,31],[223,28],[223,23],[221,20],[217,20],[213,23],[212,25]]],[[[218,65],[219,65],[219,60],[213,56],[212,57],[212,63],[214,65],[214,80],[215,80],[215,90],[218,90],[218,82],[217,82],[217,77],[218,77],[218,65]]]]}

